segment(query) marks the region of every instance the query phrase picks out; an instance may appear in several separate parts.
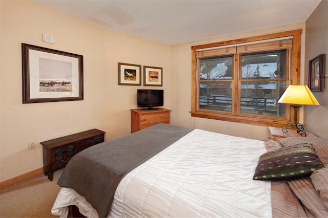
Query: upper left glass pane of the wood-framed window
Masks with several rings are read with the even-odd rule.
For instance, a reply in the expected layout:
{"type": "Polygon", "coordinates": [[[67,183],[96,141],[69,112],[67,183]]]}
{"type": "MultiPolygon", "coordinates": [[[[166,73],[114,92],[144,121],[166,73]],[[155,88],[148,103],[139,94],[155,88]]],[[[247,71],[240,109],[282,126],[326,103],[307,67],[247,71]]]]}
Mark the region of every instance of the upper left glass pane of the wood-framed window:
{"type": "Polygon", "coordinates": [[[200,80],[232,79],[232,55],[200,59],[200,80]]]}

